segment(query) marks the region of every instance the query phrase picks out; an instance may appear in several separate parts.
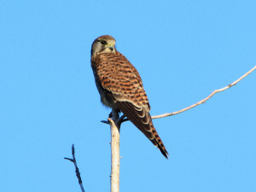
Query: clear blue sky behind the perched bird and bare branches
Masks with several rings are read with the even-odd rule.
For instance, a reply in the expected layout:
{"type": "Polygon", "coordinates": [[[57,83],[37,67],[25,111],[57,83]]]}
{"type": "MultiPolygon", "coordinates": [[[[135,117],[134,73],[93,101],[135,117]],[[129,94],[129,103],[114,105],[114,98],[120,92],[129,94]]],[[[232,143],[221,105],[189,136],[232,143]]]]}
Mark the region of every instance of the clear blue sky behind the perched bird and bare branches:
{"type": "MultiPolygon", "coordinates": [[[[0,2],[0,189],[108,191],[110,129],[90,68],[101,35],[141,73],[151,114],[200,101],[256,64],[256,2],[0,2]]],[[[256,191],[256,72],[154,125],[170,159],[121,127],[122,192],[256,191]]]]}

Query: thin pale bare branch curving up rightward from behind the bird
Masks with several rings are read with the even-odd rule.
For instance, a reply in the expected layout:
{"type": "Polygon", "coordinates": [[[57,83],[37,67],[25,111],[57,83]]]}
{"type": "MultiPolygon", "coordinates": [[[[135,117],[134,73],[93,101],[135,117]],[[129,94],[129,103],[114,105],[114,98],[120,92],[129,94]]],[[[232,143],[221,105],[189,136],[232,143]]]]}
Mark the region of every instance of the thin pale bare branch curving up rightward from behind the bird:
{"type": "Polygon", "coordinates": [[[159,119],[159,118],[164,118],[164,117],[172,116],[172,115],[175,115],[175,114],[178,114],[178,113],[183,113],[184,111],[187,111],[190,108],[195,108],[196,106],[200,105],[201,103],[207,102],[207,100],[210,99],[212,96],[214,96],[216,93],[224,91],[224,90],[227,90],[230,87],[234,86],[239,81],[241,81],[241,79],[244,79],[245,77],[247,77],[248,74],[252,73],[255,69],[256,69],[256,66],[254,66],[250,71],[248,71],[243,76],[241,76],[241,78],[239,78],[236,81],[234,81],[232,84],[229,84],[228,86],[225,86],[224,88],[221,88],[219,90],[214,90],[210,96],[207,96],[205,99],[201,100],[200,102],[196,102],[195,104],[189,106],[188,108],[183,108],[182,110],[179,110],[179,111],[176,111],[176,112],[172,112],[172,113],[164,113],[164,114],[160,114],[160,115],[155,115],[155,116],[152,116],[152,119],[159,119]]]}

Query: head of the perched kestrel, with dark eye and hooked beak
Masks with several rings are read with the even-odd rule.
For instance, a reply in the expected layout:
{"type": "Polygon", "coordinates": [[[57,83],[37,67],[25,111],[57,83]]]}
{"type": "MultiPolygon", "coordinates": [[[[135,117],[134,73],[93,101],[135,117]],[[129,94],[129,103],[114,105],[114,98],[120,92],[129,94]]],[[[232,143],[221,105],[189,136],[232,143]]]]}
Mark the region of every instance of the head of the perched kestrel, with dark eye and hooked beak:
{"type": "Polygon", "coordinates": [[[115,53],[115,40],[109,35],[103,35],[96,38],[91,45],[90,53],[94,55],[96,53],[115,53]]]}

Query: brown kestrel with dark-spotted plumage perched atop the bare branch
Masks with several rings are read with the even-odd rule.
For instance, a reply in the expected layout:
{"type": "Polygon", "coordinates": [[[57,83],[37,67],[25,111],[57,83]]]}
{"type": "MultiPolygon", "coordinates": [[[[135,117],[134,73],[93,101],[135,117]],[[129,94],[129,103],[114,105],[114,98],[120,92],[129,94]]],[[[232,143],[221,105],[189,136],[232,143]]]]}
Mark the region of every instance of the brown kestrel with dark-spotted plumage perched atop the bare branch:
{"type": "Polygon", "coordinates": [[[102,103],[125,114],[168,159],[149,114],[148,96],[137,69],[115,48],[115,39],[104,35],[91,45],[91,67],[102,103]]]}

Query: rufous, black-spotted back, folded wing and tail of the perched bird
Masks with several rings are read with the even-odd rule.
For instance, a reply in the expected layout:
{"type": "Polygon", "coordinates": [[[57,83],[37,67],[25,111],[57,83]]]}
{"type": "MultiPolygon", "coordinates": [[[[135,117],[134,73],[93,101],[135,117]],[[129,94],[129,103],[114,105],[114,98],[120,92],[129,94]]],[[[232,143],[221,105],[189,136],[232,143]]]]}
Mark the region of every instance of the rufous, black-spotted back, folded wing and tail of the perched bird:
{"type": "Polygon", "coordinates": [[[167,158],[166,148],[154,129],[148,96],[137,69],[119,52],[100,54],[95,60],[92,62],[96,64],[97,79],[102,89],[113,96],[113,108],[122,111],[167,158]]]}

